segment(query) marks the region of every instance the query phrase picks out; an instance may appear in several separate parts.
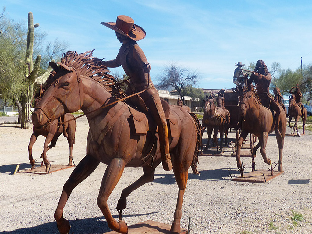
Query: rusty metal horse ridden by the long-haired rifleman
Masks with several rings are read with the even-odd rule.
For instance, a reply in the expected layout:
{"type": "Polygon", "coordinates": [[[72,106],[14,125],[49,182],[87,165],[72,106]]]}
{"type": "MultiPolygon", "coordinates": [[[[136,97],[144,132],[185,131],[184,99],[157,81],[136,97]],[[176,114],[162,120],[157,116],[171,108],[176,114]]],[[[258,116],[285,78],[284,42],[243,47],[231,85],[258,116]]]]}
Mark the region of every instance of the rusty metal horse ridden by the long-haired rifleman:
{"type": "MultiPolygon", "coordinates": [[[[260,153],[263,157],[264,162],[269,165],[271,164],[271,159],[266,157],[266,143],[268,140],[268,134],[274,131],[275,117],[273,111],[261,105],[255,90],[253,88],[251,89],[251,87],[243,91],[240,98],[239,106],[240,114],[244,117],[244,119],[241,126],[241,134],[237,142],[236,163],[237,168],[240,170],[241,176],[243,177],[244,166],[242,165],[240,160],[240,152],[241,145],[249,133],[255,134],[259,138],[258,144],[256,144],[256,146],[252,150],[252,155],[255,155],[257,149],[259,149],[260,147],[260,153]]],[[[280,110],[282,110],[282,107],[280,107],[280,110]]],[[[278,171],[283,171],[282,155],[284,138],[286,133],[285,112],[281,111],[280,116],[279,131],[281,135],[275,132],[275,136],[279,149],[278,171]]],[[[273,168],[271,164],[271,172],[272,171],[273,168]]]]}

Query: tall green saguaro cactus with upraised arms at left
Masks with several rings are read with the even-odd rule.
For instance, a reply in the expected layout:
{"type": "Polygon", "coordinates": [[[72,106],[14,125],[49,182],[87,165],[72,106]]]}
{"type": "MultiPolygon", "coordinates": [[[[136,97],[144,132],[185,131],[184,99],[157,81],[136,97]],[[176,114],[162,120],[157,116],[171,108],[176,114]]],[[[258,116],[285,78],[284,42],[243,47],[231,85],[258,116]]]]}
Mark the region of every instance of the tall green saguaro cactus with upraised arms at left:
{"type": "Polygon", "coordinates": [[[28,13],[28,33],[27,33],[27,48],[25,56],[25,79],[28,85],[25,93],[22,94],[22,128],[29,128],[31,121],[30,108],[32,105],[33,84],[38,74],[41,55],[38,55],[33,66],[32,64],[32,52],[34,46],[34,28],[39,24],[33,25],[32,12],[28,13]]]}

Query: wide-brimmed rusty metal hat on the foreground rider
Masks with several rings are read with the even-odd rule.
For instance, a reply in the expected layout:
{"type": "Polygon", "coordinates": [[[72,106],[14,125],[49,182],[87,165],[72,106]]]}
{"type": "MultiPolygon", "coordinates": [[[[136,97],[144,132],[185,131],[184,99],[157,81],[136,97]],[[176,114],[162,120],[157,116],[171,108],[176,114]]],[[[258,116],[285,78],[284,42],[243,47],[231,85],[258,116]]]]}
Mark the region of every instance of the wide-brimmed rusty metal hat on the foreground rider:
{"type": "Polygon", "coordinates": [[[143,39],[146,35],[146,32],[139,25],[134,24],[134,20],[125,15],[117,16],[116,22],[101,22],[106,27],[113,29],[115,32],[129,37],[134,41],[139,41],[143,39]]]}

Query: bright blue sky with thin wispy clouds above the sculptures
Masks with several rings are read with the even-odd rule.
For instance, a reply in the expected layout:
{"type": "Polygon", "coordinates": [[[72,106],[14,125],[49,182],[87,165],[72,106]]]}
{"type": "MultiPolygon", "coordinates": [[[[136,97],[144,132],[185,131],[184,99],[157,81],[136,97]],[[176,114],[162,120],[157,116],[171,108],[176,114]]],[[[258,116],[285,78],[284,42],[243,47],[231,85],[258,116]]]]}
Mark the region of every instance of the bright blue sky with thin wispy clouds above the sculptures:
{"type": "Polygon", "coordinates": [[[116,57],[121,44],[100,22],[132,17],[146,31],[138,44],[151,64],[152,80],[176,62],[200,74],[200,88],[231,88],[239,61],[248,65],[262,59],[268,67],[279,62],[292,70],[300,66],[301,57],[303,64],[312,62],[311,1],[1,2],[7,17],[16,21],[27,21],[31,11],[34,23],[48,33],[47,40],[68,41],[68,49],[79,53],[95,49],[94,56],[107,60],[116,57]]]}

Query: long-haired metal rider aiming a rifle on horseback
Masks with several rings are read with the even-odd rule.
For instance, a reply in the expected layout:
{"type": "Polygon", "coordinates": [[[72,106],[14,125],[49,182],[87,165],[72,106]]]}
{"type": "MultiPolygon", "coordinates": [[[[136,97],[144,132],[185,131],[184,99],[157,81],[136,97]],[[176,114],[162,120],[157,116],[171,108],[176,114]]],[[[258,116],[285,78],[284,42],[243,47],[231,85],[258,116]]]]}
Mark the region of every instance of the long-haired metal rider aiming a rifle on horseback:
{"type": "Polygon", "coordinates": [[[278,103],[269,93],[269,87],[272,80],[272,76],[266,67],[263,60],[258,60],[254,73],[251,74],[247,81],[247,86],[251,85],[254,81],[256,84],[257,95],[261,101],[261,104],[267,108],[272,108],[276,111],[275,114],[275,131],[280,135],[279,123],[280,123],[280,108],[278,103]]]}

